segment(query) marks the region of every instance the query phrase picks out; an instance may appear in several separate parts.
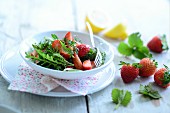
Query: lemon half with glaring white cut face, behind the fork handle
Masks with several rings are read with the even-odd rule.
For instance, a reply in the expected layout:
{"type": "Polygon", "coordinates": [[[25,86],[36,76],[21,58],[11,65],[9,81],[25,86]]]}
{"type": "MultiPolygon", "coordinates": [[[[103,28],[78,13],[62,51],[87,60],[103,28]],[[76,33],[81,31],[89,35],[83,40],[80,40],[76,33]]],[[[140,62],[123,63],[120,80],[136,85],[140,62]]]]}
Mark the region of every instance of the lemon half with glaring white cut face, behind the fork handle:
{"type": "Polygon", "coordinates": [[[89,22],[94,33],[98,33],[104,30],[108,25],[107,15],[99,10],[93,10],[88,12],[85,21],[89,22]]]}

